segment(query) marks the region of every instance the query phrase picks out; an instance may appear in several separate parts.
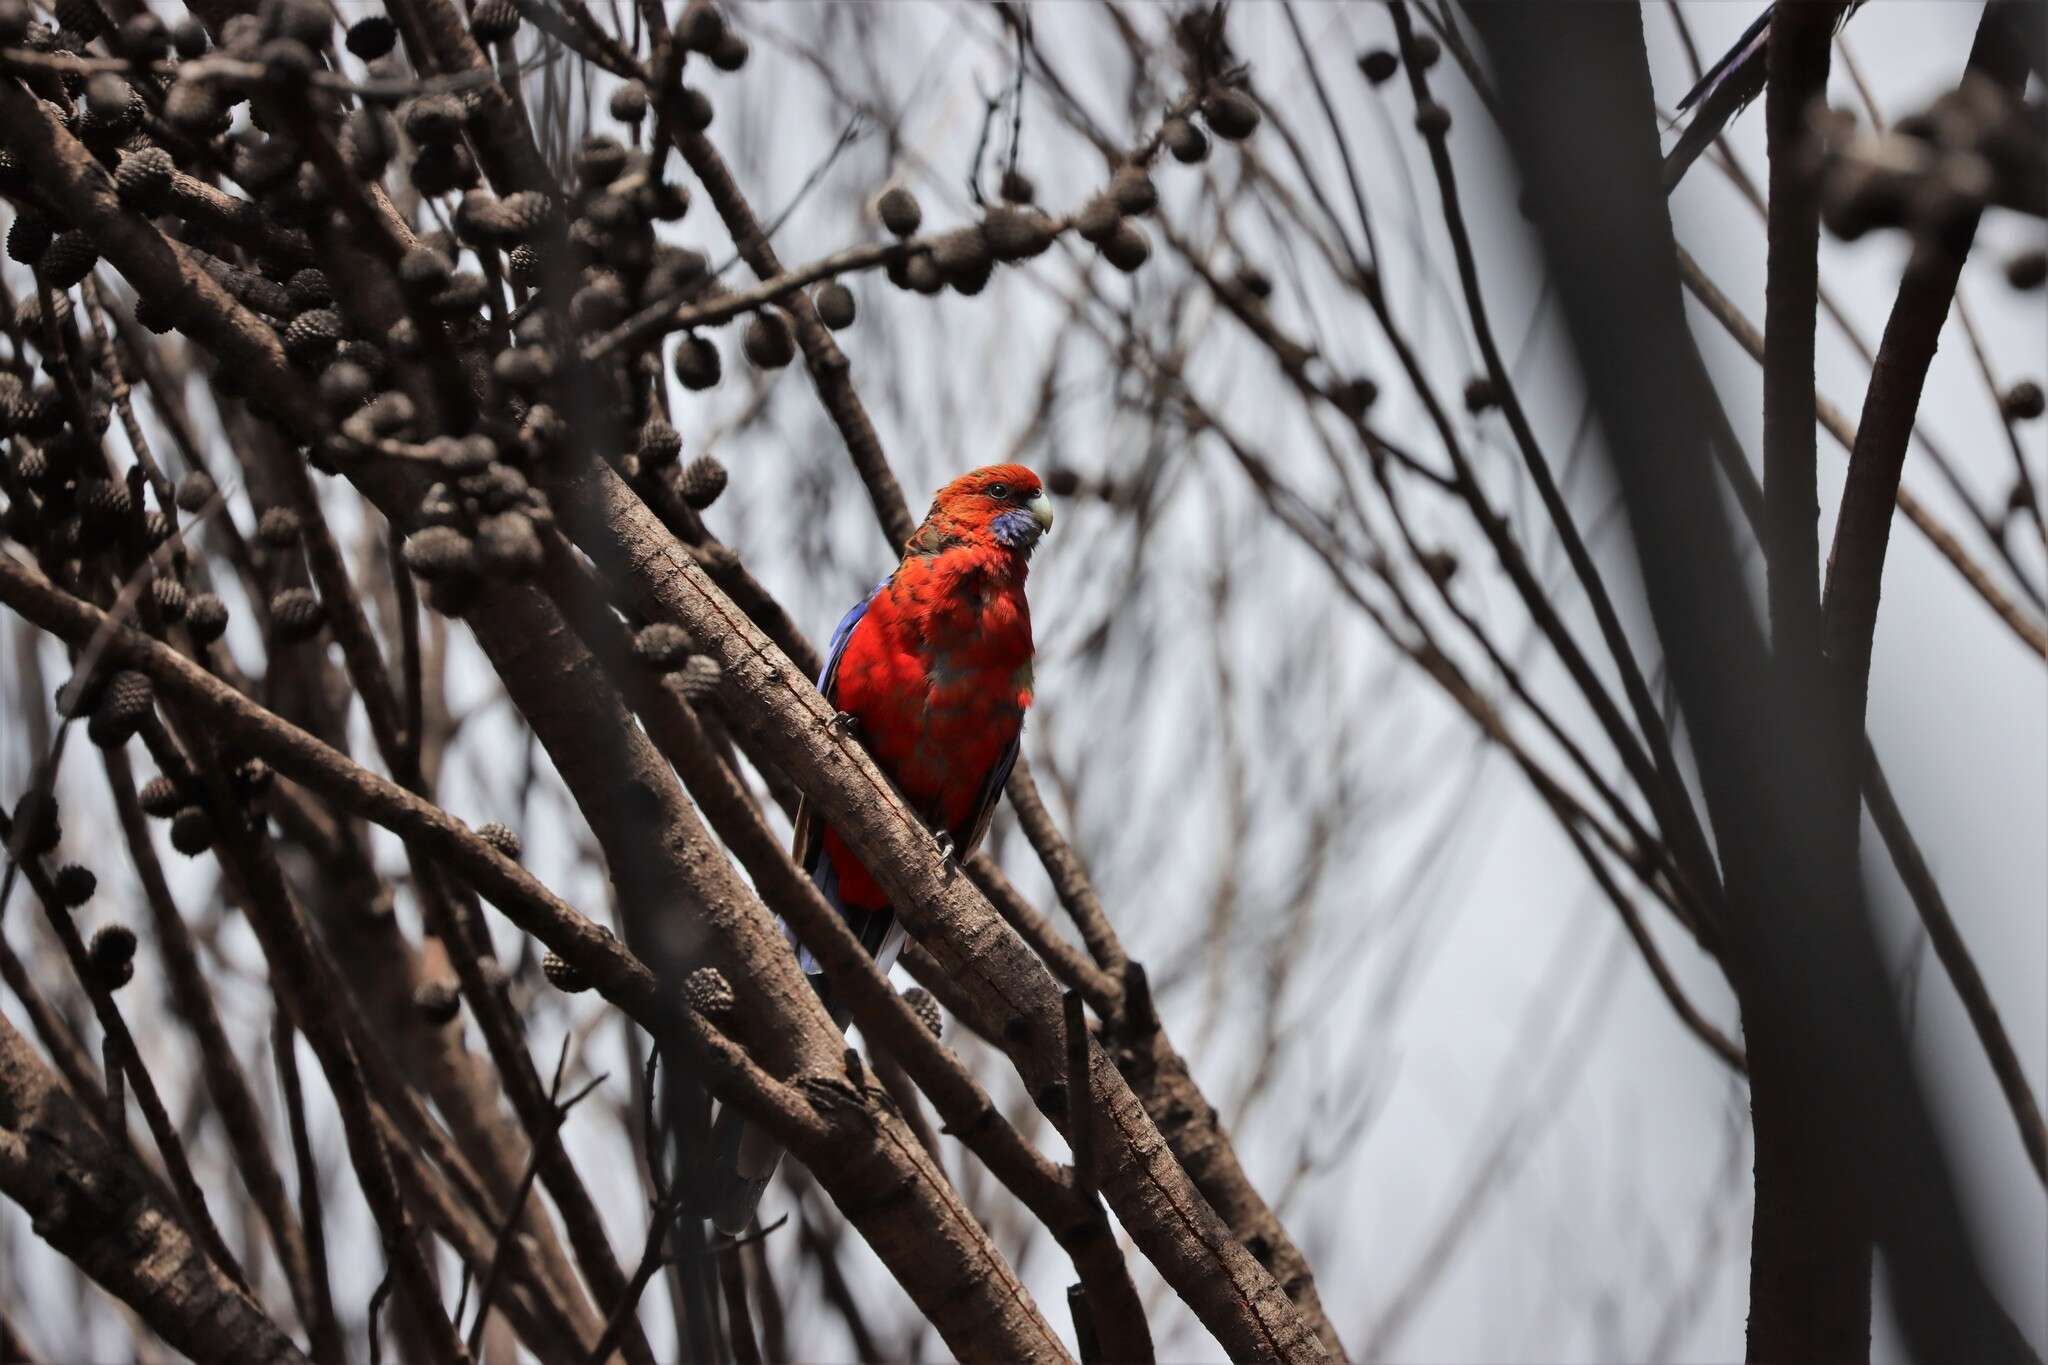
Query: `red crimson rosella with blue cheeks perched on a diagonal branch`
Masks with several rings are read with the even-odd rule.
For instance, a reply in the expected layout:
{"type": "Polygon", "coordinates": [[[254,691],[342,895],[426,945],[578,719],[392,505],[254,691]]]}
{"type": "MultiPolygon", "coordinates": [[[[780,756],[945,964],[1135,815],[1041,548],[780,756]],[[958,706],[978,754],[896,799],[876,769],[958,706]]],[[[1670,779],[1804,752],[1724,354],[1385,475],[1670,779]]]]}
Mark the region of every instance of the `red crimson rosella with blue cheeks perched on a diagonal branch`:
{"type": "MultiPolygon", "coordinates": [[[[1030,606],[1024,577],[1053,503],[1022,465],[989,465],[938,491],[903,563],[874,585],[831,632],[817,679],[897,792],[946,847],[967,857],[1016,763],[1032,696],[1030,606]]],[[[903,925],[881,882],[805,800],[797,808],[797,864],[889,970],[903,925]]],[[[840,1027],[817,962],[799,948],[840,1027]]],[[[780,1150],[721,1115],[715,1144],[719,1191],[713,1220],[741,1232],[780,1150]]]]}

